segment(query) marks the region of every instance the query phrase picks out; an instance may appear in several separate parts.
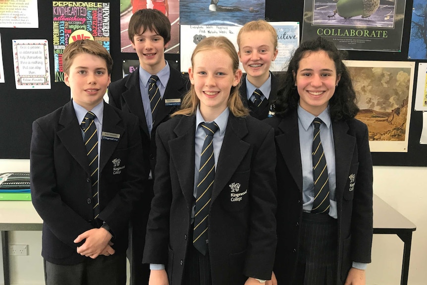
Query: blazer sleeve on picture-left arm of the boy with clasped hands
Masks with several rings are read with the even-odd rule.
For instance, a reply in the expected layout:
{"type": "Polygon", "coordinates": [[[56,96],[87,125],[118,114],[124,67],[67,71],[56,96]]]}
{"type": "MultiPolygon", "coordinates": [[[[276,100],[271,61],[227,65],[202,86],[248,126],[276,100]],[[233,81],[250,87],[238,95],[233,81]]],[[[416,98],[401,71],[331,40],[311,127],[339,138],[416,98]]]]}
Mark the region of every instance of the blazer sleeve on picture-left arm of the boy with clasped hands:
{"type": "Polygon", "coordinates": [[[31,198],[34,208],[53,234],[70,247],[81,245],[73,240],[93,228],[85,219],[62,202],[57,193],[53,158],[54,131],[33,122],[30,149],[31,198]]]}

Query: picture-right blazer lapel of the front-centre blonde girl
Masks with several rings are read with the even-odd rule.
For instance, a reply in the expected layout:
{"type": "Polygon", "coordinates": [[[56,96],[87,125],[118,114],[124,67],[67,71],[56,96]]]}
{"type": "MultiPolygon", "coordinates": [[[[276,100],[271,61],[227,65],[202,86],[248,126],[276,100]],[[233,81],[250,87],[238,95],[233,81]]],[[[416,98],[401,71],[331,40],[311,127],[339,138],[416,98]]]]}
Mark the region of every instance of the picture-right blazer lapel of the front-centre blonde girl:
{"type": "Polygon", "coordinates": [[[236,171],[240,162],[248,153],[250,144],[242,138],[248,133],[244,118],[237,118],[233,114],[228,115],[228,123],[222,141],[221,153],[216,166],[214,189],[212,190],[212,202],[219,195],[226,183],[236,171]]]}

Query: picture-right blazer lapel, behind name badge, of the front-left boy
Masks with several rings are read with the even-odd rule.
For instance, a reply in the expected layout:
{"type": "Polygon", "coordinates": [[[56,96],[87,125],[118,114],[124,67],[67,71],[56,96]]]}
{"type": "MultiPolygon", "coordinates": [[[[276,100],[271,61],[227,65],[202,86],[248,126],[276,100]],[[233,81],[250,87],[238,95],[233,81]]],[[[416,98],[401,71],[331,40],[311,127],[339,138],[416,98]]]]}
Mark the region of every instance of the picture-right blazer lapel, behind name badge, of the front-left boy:
{"type": "MultiPolygon", "coordinates": [[[[113,108],[104,102],[104,119],[102,131],[119,134],[120,138],[124,133],[124,128],[117,125],[121,118],[114,112],[113,108]]],[[[99,135],[102,135],[102,131],[99,135]]],[[[119,141],[120,141],[119,138],[119,141]]],[[[103,140],[101,138],[101,155],[100,155],[100,173],[102,173],[107,161],[111,158],[118,141],[103,140]]]]}

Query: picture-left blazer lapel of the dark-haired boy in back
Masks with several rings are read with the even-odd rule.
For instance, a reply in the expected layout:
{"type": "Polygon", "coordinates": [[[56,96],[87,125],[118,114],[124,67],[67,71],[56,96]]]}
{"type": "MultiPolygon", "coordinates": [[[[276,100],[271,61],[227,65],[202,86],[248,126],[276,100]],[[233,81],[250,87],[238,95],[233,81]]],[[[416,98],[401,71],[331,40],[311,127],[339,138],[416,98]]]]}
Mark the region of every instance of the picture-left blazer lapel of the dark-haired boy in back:
{"type": "Polygon", "coordinates": [[[138,116],[139,125],[143,129],[144,133],[147,137],[150,137],[147,122],[145,120],[144,105],[142,104],[141,88],[139,87],[139,68],[128,76],[129,80],[125,84],[127,90],[122,94],[123,99],[126,101],[130,113],[138,116]]]}

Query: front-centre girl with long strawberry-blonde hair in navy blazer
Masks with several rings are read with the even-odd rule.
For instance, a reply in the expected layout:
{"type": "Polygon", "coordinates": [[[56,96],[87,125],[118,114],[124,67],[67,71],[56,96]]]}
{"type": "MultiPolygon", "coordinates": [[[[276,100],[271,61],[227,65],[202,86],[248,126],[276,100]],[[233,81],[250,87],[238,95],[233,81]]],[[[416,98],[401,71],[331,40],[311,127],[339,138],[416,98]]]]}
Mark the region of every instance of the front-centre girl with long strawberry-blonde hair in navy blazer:
{"type": "Polygon", "coordinates": [[[156,135],[150,284],[265,284],[276,244],[273,132],[240,100],[228,39],[202,40],[191,61],[182,109],[156,135]]]}

